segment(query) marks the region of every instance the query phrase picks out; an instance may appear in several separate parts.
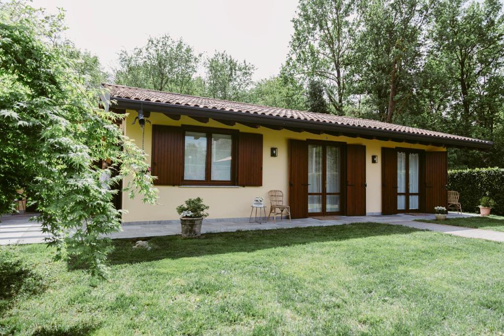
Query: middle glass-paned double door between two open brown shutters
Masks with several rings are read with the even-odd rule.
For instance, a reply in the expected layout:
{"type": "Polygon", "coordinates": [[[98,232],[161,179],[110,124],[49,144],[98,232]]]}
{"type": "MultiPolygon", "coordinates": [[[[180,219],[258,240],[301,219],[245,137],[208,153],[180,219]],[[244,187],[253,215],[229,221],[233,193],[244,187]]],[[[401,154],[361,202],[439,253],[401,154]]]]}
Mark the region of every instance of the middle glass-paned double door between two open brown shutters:
{"type": "Polygon", "coordinates": [[[308,213],[333,215],[341,211],[341,149],[308,144],[308,213]]]}

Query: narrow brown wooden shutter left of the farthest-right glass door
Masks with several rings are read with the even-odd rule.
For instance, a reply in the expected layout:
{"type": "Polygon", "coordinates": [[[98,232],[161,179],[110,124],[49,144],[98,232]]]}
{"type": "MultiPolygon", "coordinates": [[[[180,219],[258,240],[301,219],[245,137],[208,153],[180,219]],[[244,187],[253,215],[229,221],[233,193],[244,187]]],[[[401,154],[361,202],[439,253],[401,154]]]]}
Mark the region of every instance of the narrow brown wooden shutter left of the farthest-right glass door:
{"type": "Polygon", "coordinates": [[[397,214],[397,150],[382,148],[382,215],[397,214]]]}

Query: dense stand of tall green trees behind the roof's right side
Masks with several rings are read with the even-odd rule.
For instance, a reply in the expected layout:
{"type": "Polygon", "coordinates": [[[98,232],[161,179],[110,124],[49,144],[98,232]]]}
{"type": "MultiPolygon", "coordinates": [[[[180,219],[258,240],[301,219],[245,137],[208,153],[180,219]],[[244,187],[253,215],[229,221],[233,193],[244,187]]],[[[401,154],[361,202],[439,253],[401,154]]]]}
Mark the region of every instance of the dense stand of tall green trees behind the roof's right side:
{"type": "Polygon", "coordinates": [[[498,0],[300,0],[282,73],[333,113],[495,142],[450,167],[503,167],[503,20],[498,0]]]}

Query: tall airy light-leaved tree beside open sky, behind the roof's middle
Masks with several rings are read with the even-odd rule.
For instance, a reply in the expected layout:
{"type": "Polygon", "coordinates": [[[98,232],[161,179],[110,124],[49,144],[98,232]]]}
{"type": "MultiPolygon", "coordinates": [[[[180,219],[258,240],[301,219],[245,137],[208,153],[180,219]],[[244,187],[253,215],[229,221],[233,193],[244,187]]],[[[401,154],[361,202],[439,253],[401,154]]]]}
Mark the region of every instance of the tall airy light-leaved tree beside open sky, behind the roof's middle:
{"type": "Polygon", "coordinates": [[[307,85],[316,79],[337,114],[343,115],[346,82],[360,17],[354,0],[301,0],[292,19],[287,67],[307,85]]]}

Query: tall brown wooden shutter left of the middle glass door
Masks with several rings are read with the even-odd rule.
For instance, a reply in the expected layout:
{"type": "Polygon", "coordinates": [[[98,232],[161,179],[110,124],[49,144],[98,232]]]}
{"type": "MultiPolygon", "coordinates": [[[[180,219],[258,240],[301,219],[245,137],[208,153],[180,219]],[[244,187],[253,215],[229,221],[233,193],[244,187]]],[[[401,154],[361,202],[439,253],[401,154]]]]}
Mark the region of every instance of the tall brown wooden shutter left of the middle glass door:
{"type": "Polygon", "coordinates": [[[308,217],[308,145],[289,142],[289,205],[292,218],[308,217]]]}

